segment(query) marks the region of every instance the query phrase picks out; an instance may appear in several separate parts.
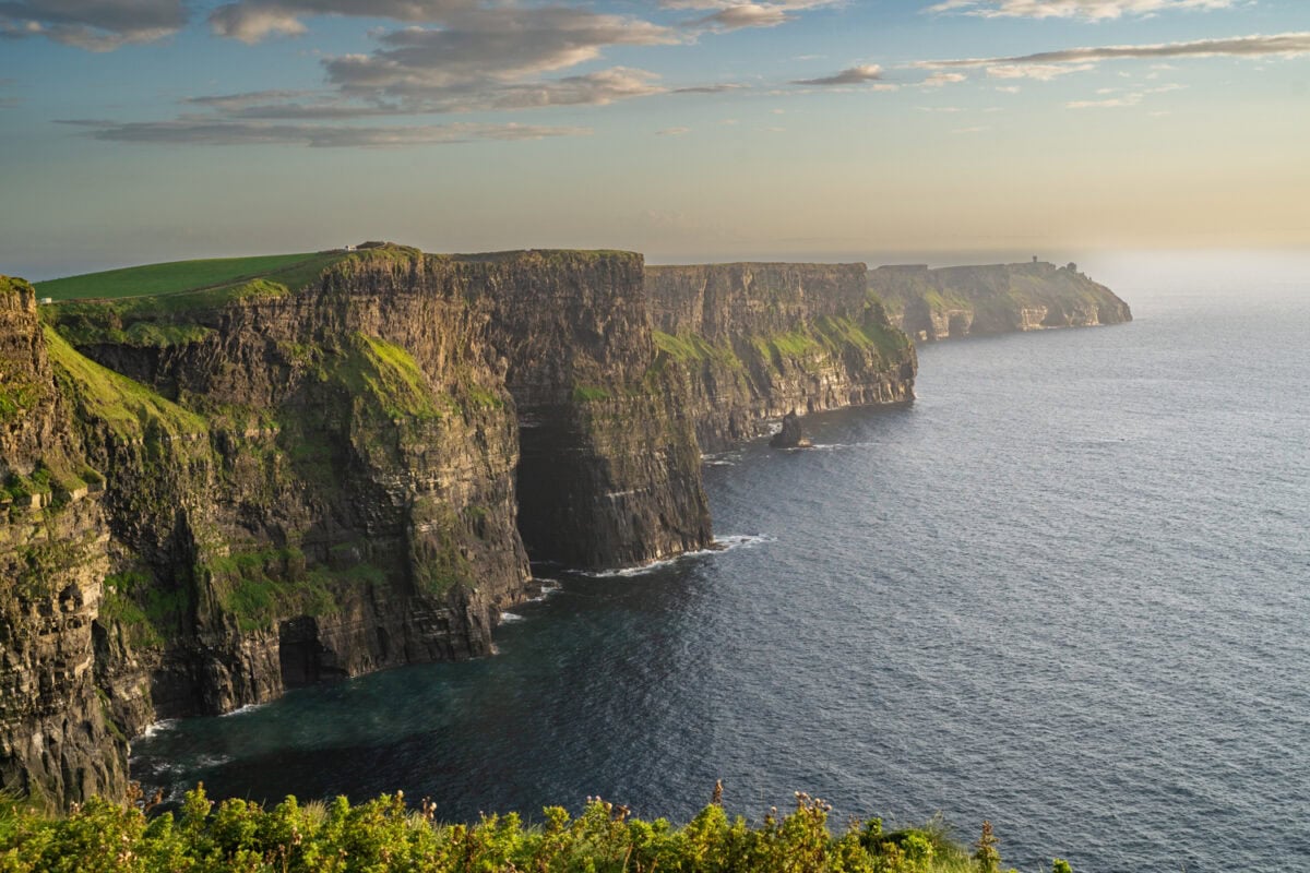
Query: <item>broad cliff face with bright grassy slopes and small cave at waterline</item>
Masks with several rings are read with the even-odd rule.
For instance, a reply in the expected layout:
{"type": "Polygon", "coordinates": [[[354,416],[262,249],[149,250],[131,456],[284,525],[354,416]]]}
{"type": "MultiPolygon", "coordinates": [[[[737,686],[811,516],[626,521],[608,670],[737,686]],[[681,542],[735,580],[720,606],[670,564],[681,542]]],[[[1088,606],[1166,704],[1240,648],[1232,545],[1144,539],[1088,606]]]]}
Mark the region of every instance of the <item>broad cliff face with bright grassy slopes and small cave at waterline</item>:
{"type": "Polygon", "coordinates": [[[113,368],[42,336],[107,483],[90,632],[123,733],[491,650],[529,576],[516,427],[487,308],[428,267],[389,250],[300,293],[54,312],[113,368]]]}

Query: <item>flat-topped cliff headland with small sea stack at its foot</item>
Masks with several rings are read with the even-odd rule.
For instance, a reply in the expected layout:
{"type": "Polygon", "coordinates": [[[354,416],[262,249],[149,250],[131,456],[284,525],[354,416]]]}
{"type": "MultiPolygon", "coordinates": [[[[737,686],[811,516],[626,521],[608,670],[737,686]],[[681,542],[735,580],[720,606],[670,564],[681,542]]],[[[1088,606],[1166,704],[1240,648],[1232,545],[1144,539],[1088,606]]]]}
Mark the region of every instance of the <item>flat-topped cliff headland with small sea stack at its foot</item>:
{"type": "Polygon", "coordinates": [[[647,267],[655,342],[701,448],[758,436],[789,411],[900,403],[916,357],[863,264],[647,267]]]}

